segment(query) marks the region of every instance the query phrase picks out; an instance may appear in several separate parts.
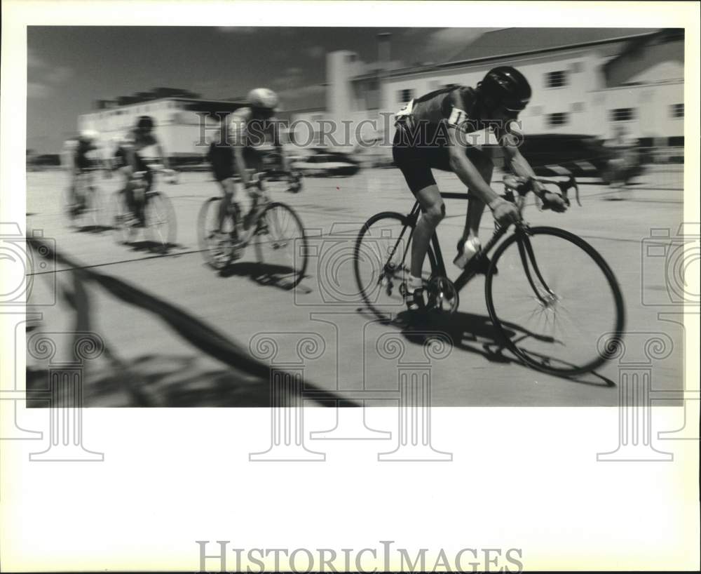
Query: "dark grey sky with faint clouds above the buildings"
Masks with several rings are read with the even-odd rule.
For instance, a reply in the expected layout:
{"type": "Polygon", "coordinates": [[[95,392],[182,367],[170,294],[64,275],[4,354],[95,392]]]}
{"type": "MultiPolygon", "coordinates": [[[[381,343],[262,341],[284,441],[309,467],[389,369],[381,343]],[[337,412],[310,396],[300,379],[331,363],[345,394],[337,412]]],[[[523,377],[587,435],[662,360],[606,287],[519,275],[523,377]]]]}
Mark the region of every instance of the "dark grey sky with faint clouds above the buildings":
{"type": "MultiPolygon", "coordinates": [[[[477,28],[65,27],[27,29],[27,148],[55,153],[95,100],[156,87],[228,100],[251,88],[283,104],[319,101],[329,51],[377,60],[376,34],[392,32],[390,59],[444,62],[486,32],[477,28]]],[[[287,106],[288,108],[291,106],[287,106]]]]}

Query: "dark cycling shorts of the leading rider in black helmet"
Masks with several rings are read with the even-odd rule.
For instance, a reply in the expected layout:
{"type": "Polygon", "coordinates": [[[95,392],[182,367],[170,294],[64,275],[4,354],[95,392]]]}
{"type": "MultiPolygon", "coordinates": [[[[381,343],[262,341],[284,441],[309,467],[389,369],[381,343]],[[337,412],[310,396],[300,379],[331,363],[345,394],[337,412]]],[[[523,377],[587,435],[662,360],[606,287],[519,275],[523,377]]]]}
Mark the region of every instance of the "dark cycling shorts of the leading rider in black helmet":
{"type": "MultiPolygon", "coordinates": [[[[468,159],[475,164],[489,161],[491,152],[489,149],[468,147],[466,149],[468,159]]],[[[448,148],[444,145],[421,145],[412,142],[411,135],[404,124],[397,124],[395,132],[392,156],[395,166],[400,168],[411,193],[416,195],[424,187],[436,185],[432,169],[453,171],[450,166],[448,148]]]]}

